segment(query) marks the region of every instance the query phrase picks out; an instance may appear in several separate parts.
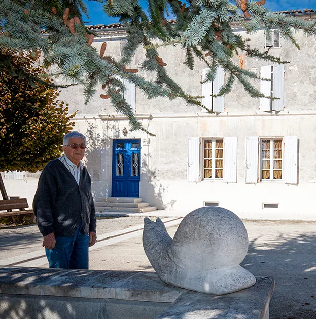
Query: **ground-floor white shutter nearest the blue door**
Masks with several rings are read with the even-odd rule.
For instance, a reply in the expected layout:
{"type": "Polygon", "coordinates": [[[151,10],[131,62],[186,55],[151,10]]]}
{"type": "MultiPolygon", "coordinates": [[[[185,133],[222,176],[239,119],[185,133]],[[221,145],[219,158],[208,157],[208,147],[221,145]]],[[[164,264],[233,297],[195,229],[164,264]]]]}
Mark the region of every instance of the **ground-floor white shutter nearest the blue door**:
{"type": "Polygon", "coordinates": [[[188,181],[199,182],[200,139],[190,137],[188,140],[188,181]]]}

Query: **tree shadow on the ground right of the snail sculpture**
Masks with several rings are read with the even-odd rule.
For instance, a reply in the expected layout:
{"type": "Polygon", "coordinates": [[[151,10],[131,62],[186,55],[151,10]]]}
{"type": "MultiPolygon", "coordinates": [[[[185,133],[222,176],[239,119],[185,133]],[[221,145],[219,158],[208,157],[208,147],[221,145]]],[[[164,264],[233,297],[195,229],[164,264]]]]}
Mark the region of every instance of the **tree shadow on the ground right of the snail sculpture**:
{"type": "Polygon", "coordinates": [[[316,232],[256,237],[241,263],[255,276],[272,276],[270,319],[316,318],[316,232]],[[265,243],[264,243],[265,242],[265,243]]]}

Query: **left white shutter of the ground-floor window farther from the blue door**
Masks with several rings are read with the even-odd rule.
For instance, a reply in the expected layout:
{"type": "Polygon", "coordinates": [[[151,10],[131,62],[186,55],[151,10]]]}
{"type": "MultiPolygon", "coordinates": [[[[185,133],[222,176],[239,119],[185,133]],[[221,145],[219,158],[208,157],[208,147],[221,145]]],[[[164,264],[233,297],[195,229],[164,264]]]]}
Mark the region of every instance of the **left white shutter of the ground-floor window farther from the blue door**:
{"type": "Polygon", "coordinates": [[[246,137],[246,183],[258,183],[258,141],[257,136],[246,137]]]}

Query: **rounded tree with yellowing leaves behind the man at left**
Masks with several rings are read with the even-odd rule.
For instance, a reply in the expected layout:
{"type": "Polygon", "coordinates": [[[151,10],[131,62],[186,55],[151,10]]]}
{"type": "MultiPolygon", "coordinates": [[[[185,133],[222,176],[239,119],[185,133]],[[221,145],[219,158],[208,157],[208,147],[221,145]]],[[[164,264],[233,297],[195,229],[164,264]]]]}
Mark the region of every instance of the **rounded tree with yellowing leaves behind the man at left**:
{"type": "Polygon", "coordinates": [[[0,51],[8,57],[0,70],[0,171],[36,172],[60,156],[75,114],[68,115],[68,104],[58,101],[58,90],[48,85],[52,80],[38,52],[0,51]],[[26,80],[25,73],[42,83],[26,80]]]}

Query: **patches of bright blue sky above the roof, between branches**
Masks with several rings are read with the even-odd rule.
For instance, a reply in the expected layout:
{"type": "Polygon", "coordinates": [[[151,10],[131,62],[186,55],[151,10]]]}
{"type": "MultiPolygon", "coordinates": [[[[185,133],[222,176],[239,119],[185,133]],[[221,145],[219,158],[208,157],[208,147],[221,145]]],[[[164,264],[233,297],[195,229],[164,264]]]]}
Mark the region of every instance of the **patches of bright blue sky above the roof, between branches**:
{"type": "MultiPolygon", "coordinates": [[[[84,19],[86,24],[109,24],[118,22],[117,18],[108,17],[102,8],[102,4],[85,0],[89,8],[89,19],[84,19]]],[[[146,0],[140,0],[141,5],[147,7],[146,0]]],[[[267,0],[265,6],[273,11],[313,9],[316,10],[316,0],[267,0]]]]}

